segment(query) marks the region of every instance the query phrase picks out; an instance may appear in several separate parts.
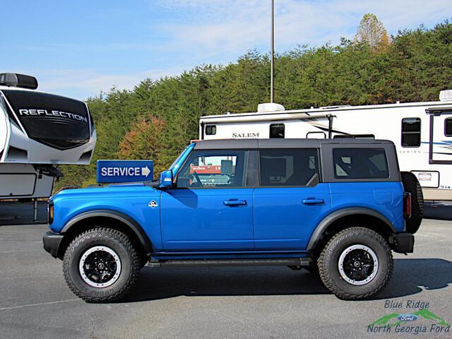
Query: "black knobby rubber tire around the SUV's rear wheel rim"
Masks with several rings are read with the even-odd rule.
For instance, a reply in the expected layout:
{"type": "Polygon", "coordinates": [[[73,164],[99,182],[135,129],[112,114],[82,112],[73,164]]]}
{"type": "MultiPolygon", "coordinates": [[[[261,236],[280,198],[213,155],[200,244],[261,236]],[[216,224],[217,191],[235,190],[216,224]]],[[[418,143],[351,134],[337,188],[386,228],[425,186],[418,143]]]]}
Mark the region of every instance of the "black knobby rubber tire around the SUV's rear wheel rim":
{"type": "Polygon", "coordinates": [[[343,300],[371,299],[388,285],[393,274],[393,256],[380,234],[364,227],[350,227],[335,234],[325,245],[317,260],[323,284],[343,300]],[[352,285],[339,272],[339,258],[347,247],[362,244],[376,254],[379,265],[373,280],[364,285],[352,285]]]}

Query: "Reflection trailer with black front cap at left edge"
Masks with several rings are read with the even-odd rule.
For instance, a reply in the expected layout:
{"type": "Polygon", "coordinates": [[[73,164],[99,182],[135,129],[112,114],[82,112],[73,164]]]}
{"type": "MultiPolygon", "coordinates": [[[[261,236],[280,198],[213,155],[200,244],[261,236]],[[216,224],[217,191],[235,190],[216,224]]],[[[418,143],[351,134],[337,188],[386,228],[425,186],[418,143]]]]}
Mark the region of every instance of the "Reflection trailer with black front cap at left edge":
{"type": "Polygon", "coordinates": [[[58,165],[88,165],[93,155],[87,105],[35,88],[31,76],[0,74],[0,199],[47,198],[58,165]]]}

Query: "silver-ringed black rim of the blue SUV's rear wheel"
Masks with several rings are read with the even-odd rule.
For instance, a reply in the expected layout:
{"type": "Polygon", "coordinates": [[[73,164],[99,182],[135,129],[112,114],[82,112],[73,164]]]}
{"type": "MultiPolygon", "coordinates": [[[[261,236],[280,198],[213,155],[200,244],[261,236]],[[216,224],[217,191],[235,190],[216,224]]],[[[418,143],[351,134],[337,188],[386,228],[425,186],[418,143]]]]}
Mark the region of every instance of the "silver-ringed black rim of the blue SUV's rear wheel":
{"type": "Polygon", "coordinates": [[[351,285],[361,286],[374,280],[379,270],[379,259],[370,247],[357,244],[347,247],[340,254],[338,266],[340,276],[343,280],[351,285]],[[363,259],[362,255],[364,255],[365,261],[359,260],[363,259]],[[350,261],[352,262],[352,266],[350,266],[350,261]],[[353,269],[361,270],[358,274],[361,275],[359,278],[356,278],[350,272],[353,269]]]}

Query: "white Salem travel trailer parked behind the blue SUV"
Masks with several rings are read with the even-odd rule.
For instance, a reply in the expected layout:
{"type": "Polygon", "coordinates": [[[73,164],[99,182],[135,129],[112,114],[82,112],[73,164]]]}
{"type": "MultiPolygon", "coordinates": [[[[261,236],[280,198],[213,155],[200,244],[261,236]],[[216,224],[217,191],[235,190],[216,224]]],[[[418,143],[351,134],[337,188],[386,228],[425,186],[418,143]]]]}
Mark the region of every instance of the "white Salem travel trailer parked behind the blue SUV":
{"type": "Polygon", "coordinates": [[[425,200],[452,200],[452,90],[437,102],[334,106],[201,117],[201,139],[378,138],[396,144],[400,169],[414,173],[425,200]]]}

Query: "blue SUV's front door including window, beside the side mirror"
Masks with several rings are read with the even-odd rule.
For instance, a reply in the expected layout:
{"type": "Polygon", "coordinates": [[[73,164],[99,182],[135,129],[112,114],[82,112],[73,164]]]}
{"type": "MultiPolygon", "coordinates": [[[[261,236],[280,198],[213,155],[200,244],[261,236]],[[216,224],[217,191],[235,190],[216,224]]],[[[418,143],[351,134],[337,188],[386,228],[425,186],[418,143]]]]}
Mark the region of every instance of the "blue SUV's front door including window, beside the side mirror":
{"type": "Polygon", "coordinates": [[[253,250],[253,190],[246,188],[246,150],[194,150],[162,191],[165,251],[253,250]]]}

